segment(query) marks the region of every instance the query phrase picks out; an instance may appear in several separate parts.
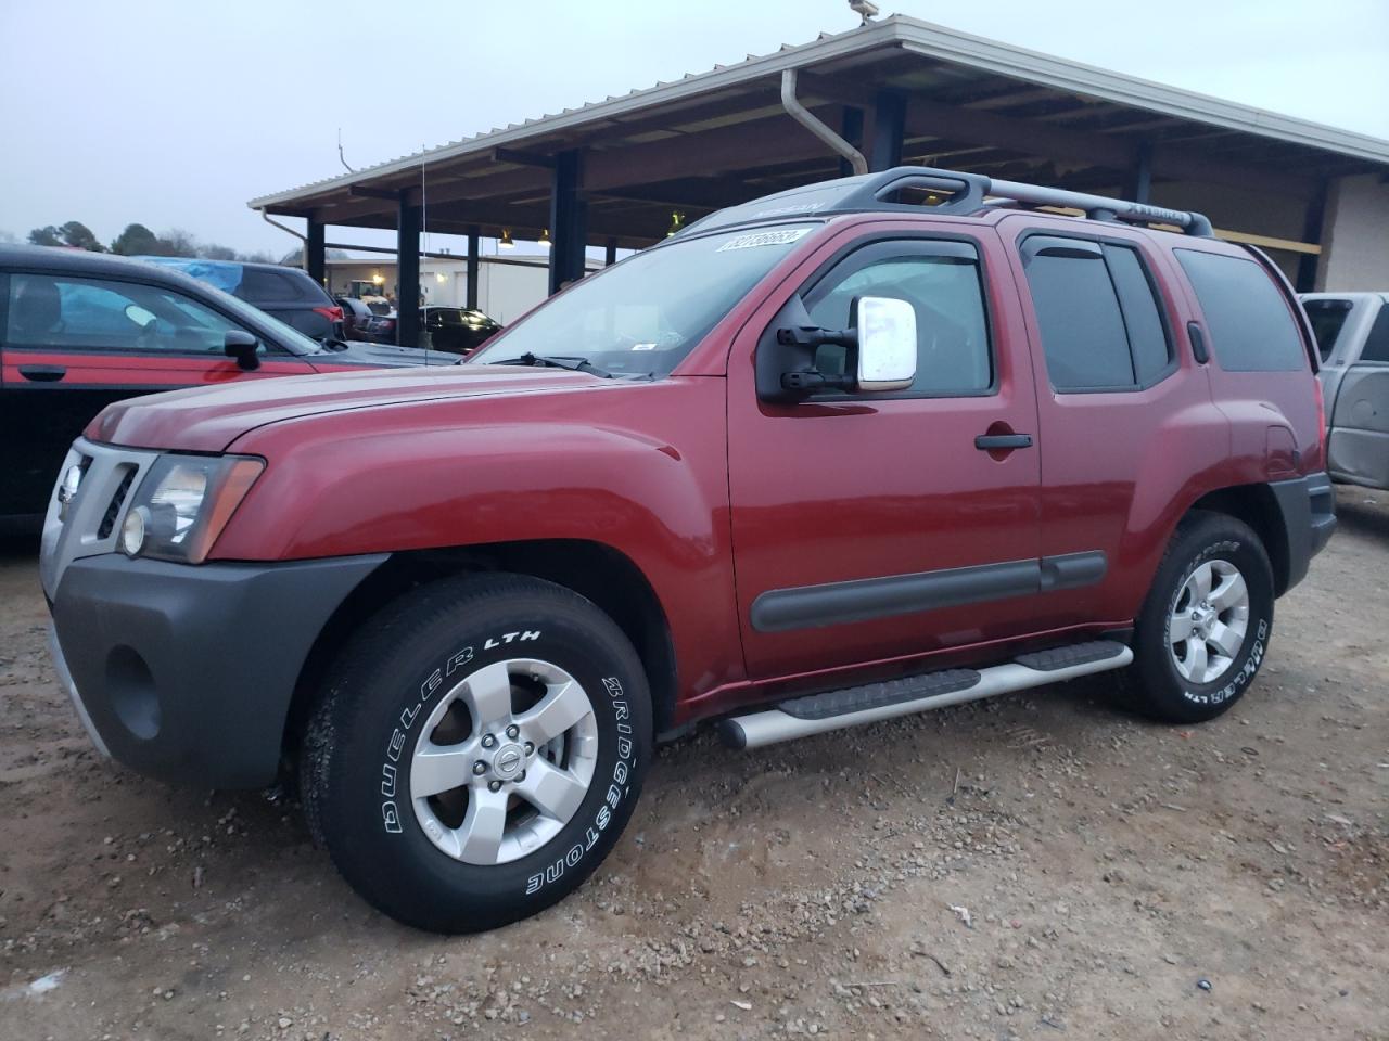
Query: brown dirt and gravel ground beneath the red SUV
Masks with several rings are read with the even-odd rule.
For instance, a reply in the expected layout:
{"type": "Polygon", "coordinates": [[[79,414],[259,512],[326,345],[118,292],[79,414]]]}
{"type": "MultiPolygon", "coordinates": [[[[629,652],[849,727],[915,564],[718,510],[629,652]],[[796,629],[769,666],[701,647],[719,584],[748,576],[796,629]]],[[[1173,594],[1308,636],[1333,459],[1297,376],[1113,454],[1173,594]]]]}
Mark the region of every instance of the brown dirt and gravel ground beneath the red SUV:
{"type": "Polygon", "coordinates": [[[1389,1040],[1389,496],[1190,730],[1106,677],[667,748],[579,894],[440,938],[274,794],[101,761],[0,554],[0,1038],[1389,1040]]]}

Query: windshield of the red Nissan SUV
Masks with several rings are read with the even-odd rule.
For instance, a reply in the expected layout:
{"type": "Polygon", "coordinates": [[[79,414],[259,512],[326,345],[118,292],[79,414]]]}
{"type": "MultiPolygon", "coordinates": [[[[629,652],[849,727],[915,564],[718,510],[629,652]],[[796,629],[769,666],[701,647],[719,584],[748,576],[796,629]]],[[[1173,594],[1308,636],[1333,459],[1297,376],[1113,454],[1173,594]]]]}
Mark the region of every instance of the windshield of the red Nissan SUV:
{"type": "Polygon", "coordinates": [[[467,364],[550,355],[614,376],[669,375],[811,228],[725,232],[638,253],[542,304],[467,364]]]}

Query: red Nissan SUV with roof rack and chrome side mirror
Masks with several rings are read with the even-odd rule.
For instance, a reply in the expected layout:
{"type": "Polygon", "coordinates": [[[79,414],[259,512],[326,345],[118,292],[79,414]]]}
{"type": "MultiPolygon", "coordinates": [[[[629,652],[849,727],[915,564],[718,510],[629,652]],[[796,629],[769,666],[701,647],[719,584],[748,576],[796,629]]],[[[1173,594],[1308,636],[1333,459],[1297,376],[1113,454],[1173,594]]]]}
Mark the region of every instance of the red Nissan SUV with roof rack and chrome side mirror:
{"type": "Polygon", "coordinates": [[[701,722],[757,748],[1104,672],[1229,709],[1335,526],[1314,372],[1278,268],[1199,214],[813,185],[456,368],[107,408],[46,522],[56,661],[117,759],[297,762],[369,902],[490,929],[592,874],[701,722]]]}

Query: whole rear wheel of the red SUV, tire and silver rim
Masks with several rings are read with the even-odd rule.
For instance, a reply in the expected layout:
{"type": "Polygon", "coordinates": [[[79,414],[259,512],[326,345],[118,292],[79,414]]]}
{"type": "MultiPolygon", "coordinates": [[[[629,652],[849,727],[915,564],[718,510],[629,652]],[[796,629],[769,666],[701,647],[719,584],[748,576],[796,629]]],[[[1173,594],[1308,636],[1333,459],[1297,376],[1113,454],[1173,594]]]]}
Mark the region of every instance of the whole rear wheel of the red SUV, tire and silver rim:
{"type": "Polygon", "coordinates": [[[1158,565],[1135,626],[1128,704],[1170,723],[1228,711],[1253,683],[1274,626],[1274,576],[1258,536],[1192,511],[1158,565]]]}

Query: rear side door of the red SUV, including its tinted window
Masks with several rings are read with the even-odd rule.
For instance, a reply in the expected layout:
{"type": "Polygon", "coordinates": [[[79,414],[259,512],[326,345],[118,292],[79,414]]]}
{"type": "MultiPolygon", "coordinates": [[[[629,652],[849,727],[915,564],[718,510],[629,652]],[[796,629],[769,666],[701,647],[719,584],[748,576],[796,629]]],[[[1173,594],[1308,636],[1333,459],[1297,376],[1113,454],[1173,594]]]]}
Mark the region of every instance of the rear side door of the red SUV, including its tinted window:
{"type": "Polygon", "coordinates": [[[1176,350],[1185,298],[1146,236],[1031,215],[999,226],[1015,243],[1039,384],[1040,551],[1089,561],[1097,579],[1038,598],[1036,620],[1122,626],[1186,484],[1226,457],[1228,421],[1206,372],[1176,350]]]}

